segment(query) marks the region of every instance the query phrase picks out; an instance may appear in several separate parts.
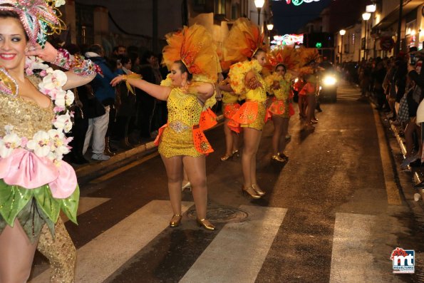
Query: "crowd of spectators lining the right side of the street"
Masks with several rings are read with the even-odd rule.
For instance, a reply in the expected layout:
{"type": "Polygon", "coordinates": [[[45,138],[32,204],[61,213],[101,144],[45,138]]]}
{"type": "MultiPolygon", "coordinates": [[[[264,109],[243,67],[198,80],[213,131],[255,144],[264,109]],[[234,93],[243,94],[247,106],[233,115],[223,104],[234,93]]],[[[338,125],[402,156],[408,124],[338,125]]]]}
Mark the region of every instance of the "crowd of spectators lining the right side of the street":
{"type": "MultiPolygon", "coordinates": [[[[341,66],[346,79],[361,87],[360,100],[371,99],[376,110],[386,113],[391,125],[405,138],[406,154],[400,164],[403,170],[420,167],[424,162],[423,60],[424,51],[413,46],[408,53],[400,52],[395,57],[370,58],[341,66]]],[[[424,182],[415,187],[424,188],[424,182]]]]}

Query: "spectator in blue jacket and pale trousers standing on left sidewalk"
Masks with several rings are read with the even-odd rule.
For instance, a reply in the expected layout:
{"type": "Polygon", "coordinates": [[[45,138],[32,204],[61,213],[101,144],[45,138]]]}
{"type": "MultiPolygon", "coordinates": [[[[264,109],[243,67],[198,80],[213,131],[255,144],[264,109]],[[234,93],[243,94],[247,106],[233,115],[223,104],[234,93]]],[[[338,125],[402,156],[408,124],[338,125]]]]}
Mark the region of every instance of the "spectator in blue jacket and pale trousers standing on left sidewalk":
{"type": "Polygon", "coordinates": [[[104,57],[102,46],[93,44],[88,48],[86,57],[90,58],[91,61],[100,66],[103,75],[97,74],[94,80],[91,82],[95,98],[105,106],[105,114],[98,117],[92,118],[88,121],[88,130],[86,134],[86,140],[84,143],[83,153],[86,153],[91,137],[93,135],[93,160],[109,160],[110,156],[105,153],[110,153],[109,148],[109,135],[108,129],[110,127],[110,116],[115,117],[115,90],[110,86],[110,81],[115,77],[115,74],[110,69],[110,64],[104,57]],[[112,111],[111,111],[112,110],[112,111]]]}

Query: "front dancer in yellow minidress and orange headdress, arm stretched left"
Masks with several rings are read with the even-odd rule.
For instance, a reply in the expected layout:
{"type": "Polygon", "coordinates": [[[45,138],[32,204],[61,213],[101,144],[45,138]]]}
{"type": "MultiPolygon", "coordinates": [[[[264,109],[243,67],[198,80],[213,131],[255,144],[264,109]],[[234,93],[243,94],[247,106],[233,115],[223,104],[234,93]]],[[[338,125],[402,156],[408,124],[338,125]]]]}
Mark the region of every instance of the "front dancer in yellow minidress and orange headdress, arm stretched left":
{"type": "Polygon", "coordinates": [[[170,227],[177,227],[182,220],[181,182],[184,168],[192,187],[197,223],[206,230],[214,230],[214,225],[206,219],[205,168],[205,155],[213,150],[202,132],[200,115],[205,103],[214,95],[214,83],[220,72],[219,60],[212,36],[197,24],[167,36],[167,43],[163,50],[163,61],[171,73],[162,86],[125,75],[114,78],[111,83],[115,86],[126,80],[150,96],[167,101],[167,124],[160,128],[156,142],[159,143],[159,153],[165,164],[174,212],[170,227]]]}

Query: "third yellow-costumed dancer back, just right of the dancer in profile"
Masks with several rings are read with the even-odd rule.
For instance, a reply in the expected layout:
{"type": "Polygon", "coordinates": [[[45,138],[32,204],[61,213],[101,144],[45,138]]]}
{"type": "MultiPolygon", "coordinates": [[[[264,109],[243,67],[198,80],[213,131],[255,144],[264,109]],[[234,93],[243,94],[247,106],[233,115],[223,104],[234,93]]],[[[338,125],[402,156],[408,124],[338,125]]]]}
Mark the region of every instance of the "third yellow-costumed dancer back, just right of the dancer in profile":
{"type": "Polygon", "coordinates": [[[274,68],[274,73],[267,76],[265,81],[269,86],[269,93],[274,94],[272,103],[267,109],[267,118],[272,118],[274,134],[272,135],[272,160],[285,162],[286,135],[289,131],[289,119],[294,115],[292,105],[293,93],[291,92],[291,74],[299,63],[296,58],[294,46],[275,48],[269,53],[269,63],[274,68]]]}

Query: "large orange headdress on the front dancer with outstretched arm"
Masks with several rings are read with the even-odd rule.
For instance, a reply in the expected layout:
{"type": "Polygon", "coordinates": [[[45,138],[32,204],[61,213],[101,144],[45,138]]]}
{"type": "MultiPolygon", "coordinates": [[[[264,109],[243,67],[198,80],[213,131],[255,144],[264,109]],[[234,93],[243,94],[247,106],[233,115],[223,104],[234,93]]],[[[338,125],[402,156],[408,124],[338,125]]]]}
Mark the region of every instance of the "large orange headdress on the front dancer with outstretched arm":
{"type": "Polygon", "coordinates": [[[217,80],[217,74],[221,71],[219,58],[212,36],[204,26],[184,26],[182,31],[167,34],[166,40],[168,45],[163,48],[162,63],[165,63],[168,70],[172,63],[181,60],[193,75],[217,80]]]}

